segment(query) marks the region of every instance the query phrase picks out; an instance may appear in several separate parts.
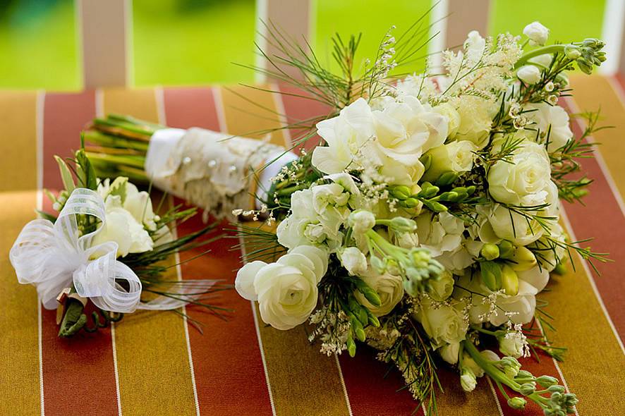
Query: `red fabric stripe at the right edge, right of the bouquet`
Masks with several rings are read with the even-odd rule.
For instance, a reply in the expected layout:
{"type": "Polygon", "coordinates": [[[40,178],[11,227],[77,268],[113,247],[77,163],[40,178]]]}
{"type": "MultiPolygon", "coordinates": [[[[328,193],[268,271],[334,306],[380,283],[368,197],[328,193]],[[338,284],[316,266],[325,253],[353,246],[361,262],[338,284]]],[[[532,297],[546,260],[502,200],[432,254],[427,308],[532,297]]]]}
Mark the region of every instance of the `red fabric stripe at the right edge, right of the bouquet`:
{"type": "MultiPolygon", "coordinates": [[[[566,107],[566,101],[562,103],[566,107]]],[[[568,109],[568,107],[567,107],[568,109]]],[[[570,111],[570,109],[569,109],[570,111]]],[[[581,135],[578,123],[572,122],[571,128],[576,136],[581,135]]],[[[583,204],[564,202],[566,214],[578,240],[593,238],[590,245],[595,252],[607,252],[611,259],[619,262],[625,259],[625,216],[609,187],[605,176],[594,158],[578,160],[582,171],[594,180],[583,204]]],[[[621,278],[621,268],[613,262],[593,262],[601,276],[593,274],[597,289],[621,340],[625,334],[625,280],[621,278]]]]}

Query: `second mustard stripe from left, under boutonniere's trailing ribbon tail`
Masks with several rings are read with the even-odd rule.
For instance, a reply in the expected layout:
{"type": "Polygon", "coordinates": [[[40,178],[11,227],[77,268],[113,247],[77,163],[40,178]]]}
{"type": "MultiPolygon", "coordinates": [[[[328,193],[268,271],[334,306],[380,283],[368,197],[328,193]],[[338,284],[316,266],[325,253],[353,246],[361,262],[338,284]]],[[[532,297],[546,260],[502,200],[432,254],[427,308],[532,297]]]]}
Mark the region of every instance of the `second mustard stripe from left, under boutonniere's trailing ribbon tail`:
{"type": "MultiPolygon", "coordinates": [[[[154,90],[105,90],[103,97],[105,114],[159,121],[154,90]]],[[[158,204],[158,198],[153,202],[158,204]]],[[[177,279],[176,268],[170,270],[169,279],[177,279]]],[[[115,337],[124,416],[196,414],[181,317],[174,312],[127,314],[116,324],[115,337]]]]}

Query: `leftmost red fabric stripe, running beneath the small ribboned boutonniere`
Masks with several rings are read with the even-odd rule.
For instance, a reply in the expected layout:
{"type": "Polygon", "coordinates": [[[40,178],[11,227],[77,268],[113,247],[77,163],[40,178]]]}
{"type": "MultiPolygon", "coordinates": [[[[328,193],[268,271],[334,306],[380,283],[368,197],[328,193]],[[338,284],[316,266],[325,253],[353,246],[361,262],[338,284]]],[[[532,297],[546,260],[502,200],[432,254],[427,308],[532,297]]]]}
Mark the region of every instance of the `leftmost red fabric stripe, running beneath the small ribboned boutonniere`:
{"type": "MultiPolygon", "coordinates": [[[[95,116],[93,92],[47,94],[44,105],[44,188],[62,188],[54,154],[70,156],[80,146],[80,130],[95,116]]],[[[44,210],[51,204],[44,197],[44,210]]],[[[42,367],[45,412],[80,415],[97,409],[117,414],[117,393],[110,329],[80,332],[70,339],[56,336],[56,311],[42,311],[42,367]]]]}

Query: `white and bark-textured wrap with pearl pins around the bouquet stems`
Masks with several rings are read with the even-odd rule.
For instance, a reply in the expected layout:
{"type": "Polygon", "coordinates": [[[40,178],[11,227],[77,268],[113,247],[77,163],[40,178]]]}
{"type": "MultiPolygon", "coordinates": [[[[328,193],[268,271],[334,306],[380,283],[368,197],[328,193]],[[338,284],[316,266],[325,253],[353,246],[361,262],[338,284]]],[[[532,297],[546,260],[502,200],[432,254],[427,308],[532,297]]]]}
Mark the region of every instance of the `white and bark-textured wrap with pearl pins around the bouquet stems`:
{"type": "Polygon", "coordinates": [[[255,169],[274,161],[258,176],[259,197],[265,199],[271,178],[294,159],[295,154],[266,140],[202,128],[165,128],[150,139],[145,173],[158,188],[221,219],[231,216],[233,209],[260,208],[250,204],[255,169]]]}

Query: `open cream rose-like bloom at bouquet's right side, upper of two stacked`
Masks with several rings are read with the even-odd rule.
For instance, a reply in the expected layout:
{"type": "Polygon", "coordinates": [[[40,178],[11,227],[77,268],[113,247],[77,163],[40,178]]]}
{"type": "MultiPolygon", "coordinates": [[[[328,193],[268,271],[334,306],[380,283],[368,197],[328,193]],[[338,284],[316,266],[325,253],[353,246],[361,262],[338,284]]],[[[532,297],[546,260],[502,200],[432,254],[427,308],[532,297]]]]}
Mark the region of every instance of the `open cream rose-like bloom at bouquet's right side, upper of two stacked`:
{"type": "Polygon", "coordinates": [[[504,204],[527,207],[544,204],[551,182],[551,163],[545,147],[524,141],[510,161],[497,161],[488,170],[488,191],[504,204]]]}

